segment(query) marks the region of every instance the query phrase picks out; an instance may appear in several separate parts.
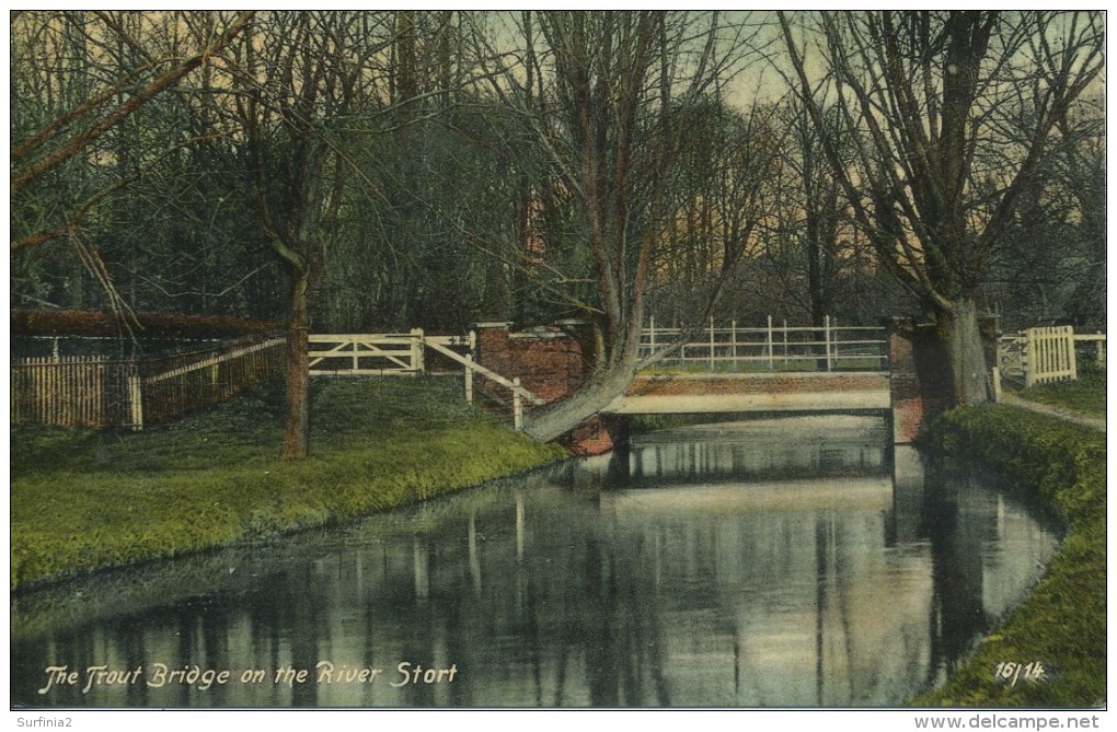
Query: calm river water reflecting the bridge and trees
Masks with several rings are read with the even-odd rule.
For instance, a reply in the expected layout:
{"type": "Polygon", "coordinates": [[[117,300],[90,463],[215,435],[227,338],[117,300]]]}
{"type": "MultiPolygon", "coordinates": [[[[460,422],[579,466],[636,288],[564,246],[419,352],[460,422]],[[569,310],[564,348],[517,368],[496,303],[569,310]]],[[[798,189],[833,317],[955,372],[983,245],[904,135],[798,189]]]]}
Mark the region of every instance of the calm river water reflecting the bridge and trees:
{"type": "Polygon", "coordinates": [[[925,475],[888,437],[841,416],[656,433],[346,528],[25,595],[13,704],[894,705],[1019,601],[1056,531],[972,476],[925,475]],[[37,692],[52,665],[155,664],[230,680],[37,692]]]}

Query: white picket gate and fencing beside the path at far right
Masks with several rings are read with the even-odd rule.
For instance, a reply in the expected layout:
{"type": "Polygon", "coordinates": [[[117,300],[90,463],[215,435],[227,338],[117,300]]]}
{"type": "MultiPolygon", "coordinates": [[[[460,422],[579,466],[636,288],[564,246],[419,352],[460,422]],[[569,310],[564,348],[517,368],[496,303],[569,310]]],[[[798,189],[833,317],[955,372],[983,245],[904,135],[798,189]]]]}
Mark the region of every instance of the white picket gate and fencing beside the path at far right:
{"type": "Polygon", "coordinates": [[[1002,336],[997,348],[1000,370],[1006,377],[1022,378],[1024,386],[1076,381],[1078,346],[1083,344],[1094,345],[1095,359],[1105,368],[1105,334],[1076,334],[1073,326],[1044,326],[1002,336]]]}

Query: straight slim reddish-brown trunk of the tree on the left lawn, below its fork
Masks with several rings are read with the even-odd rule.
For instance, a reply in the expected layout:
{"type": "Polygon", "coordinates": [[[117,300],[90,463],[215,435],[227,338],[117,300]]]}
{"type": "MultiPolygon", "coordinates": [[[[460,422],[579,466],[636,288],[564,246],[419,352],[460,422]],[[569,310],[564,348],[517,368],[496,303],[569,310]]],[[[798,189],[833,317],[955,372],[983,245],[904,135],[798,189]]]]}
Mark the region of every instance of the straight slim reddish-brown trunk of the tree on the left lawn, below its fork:
{"type": "Polygon", "coordinates": [[[287,424],[283,435],[284,460],[311,454],[311,369],[308,272],[292,268],[290,315],[287,328],[287,424]]]}

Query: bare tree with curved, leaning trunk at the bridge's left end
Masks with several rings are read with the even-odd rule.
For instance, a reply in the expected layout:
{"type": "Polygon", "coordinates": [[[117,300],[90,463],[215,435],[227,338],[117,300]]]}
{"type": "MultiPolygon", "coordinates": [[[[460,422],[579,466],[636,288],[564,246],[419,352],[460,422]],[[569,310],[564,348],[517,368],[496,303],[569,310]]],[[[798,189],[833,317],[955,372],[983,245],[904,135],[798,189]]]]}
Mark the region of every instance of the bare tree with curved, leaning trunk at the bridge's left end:
{"type": "MultiPolygon", "coordinates": [[[[691,117],[715,84],[741,68],[752,38],[718,13],[546,12],[522,20],[526,50],[517,59],[531,62],[506,66],[494,90],[547,151],[574,202],[571,245],[585,248],[596,286],[582,310],[595,327],[592,373],[575,394],[525,420],[529,435],[552,440],[620,394],[640,365],[651,262],[676,215],[675,172],[694,143],[691,117]]],[[[727,270],[734,261],[725,260],[727,270]]]]}

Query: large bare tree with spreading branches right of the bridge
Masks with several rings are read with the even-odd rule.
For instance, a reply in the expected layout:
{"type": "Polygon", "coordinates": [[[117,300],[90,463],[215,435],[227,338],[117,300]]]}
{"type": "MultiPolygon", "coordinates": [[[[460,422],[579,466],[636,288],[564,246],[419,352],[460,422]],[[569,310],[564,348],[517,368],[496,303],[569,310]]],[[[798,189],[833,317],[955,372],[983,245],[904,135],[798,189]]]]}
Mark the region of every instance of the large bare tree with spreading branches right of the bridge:
{"type": "Polygon", "coordinates": [[[809,38],[818,41],[821,85],[780,13],[795,85],[831,167],[879,260],[934,312],[956,402],[983,402],[975,292],[1019,202],[1038,185],[1060,121],[1104,68],[1102,13],[817,20],[809,38]],[[842,134],[857,143],[853,167],[840,160],[824,104],[837,106],[842,134]]]}

